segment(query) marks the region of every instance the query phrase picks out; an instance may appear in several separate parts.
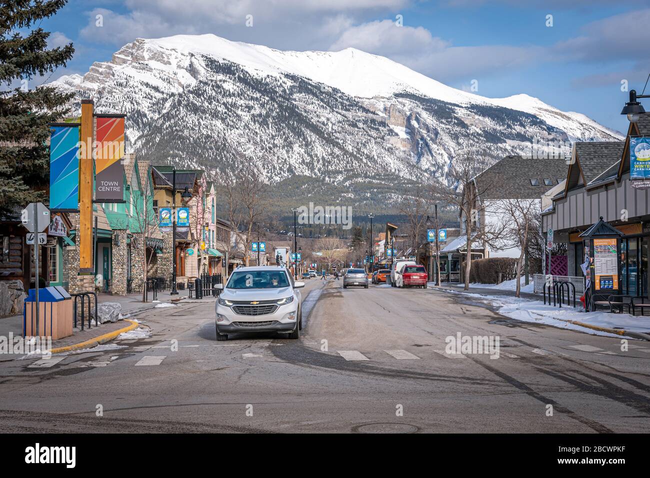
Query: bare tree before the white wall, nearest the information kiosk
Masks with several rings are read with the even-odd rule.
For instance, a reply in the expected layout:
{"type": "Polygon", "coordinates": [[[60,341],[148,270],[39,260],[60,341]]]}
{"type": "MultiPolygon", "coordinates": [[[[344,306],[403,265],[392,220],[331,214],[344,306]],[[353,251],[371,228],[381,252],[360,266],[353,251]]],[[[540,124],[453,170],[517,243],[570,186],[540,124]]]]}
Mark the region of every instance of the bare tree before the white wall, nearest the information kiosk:
{"type": "Polygon", "coordinates": [[[505,225],[502,238],[504,247],[518,247],[520,250],[517,259],[517,289],[515,290],[515,297],[519,297],[521,294],[521,270],[528,241],[538,233],[536,215],[539,211],[539,201],[536,199],[503,199],[497,201],[495,210],[505,225]]]}

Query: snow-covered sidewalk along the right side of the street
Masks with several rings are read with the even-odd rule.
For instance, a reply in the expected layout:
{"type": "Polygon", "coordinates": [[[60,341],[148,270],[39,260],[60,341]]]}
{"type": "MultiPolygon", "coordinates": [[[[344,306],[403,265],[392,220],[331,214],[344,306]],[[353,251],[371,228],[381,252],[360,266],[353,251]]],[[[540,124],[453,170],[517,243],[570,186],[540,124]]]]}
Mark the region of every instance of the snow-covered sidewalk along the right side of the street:
{"type": "Polygon", "coordinates": [[[582,333],[650,340],[650,316],[612,314],[603,310],[584,312],[580,301],[576,302],[575,308],[573,301],[570,307],[566,304],[562,305],[562,308],[553,307],[551,304],[543,303],[541,294],[522,293],[521,297],[517,298],[512,290],[470,288],[469,291],[465,291],[463,286],[447,284],[437,287],[431,283],[429,287],[490,301],[499,314],[515,320],[552,325],[582,333]]]}

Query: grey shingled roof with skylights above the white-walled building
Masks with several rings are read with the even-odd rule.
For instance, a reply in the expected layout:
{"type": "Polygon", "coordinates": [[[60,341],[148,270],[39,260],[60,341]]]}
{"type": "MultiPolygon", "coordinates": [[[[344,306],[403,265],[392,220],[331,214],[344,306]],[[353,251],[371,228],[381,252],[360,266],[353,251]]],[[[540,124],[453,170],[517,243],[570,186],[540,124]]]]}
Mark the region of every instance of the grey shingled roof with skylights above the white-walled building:
{"type": "Polygon", "coordinates": [[[565,158],[530,158],[506,156],[474,180],[482,200],[484,199],[539,199],[567,176],[565,158]],[[536,179],[534,186],[531,179],[536,179]],[[550,179],[551,184],[544,184],[550,179]]]}

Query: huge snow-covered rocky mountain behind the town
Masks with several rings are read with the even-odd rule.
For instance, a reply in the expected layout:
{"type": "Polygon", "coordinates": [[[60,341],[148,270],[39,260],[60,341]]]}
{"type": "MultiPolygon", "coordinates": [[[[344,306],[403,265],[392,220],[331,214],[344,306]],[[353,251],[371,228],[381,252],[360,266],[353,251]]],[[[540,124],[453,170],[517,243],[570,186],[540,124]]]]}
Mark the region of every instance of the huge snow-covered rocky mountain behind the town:
{"type": "Polygon", "coordinates": [[[212,34],[138,39],[52,84],[75,94],[77,112],[92,97],[96,112],[126,113],[133,149],[153,163],[226,171],[245,157],[287,200],[390,199],[422,173],[444,179],[459,155],[622,137],[528,95],[482,97],[357,49],[279,51],[212,34]]]}

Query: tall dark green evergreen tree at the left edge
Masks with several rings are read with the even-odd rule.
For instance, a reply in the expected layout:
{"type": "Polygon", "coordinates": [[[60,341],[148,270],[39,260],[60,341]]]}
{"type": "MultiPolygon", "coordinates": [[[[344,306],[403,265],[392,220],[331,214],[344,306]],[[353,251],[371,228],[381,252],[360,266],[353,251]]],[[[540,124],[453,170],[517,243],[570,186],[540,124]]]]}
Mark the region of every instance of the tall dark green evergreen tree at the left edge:
{"type": "Polygon", "coordinates": [[[49,32],[40,26],[29,30],[66,3],[0,0],[0,214],[47,199],[47,124],[66,114],[72,94],[36,88],[32,81],[44,82],[46,73],[66,65],[74,49],[72,44],[48,49],[49,32]]]}

